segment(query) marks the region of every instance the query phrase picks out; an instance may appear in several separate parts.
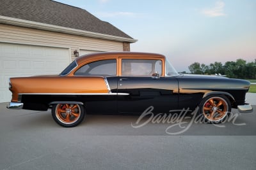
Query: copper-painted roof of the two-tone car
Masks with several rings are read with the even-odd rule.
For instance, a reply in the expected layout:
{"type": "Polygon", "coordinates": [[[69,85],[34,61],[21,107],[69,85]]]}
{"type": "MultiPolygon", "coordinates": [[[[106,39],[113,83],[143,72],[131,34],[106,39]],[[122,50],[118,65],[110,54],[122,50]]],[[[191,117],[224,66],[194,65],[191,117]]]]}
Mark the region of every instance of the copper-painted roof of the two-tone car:
{"type": "Polygon", "coordinates": [[[165,59],[164,55],[159,53],[145,53],[145,52],[100,52],[100,53],[90,53],[86,55],[81,55],[80,57],[76,58],[77,64],[81,64],[88,60],[97,60],[97,59],[107,59],[109,57],[152,57],[153,59],[165,59]]]}

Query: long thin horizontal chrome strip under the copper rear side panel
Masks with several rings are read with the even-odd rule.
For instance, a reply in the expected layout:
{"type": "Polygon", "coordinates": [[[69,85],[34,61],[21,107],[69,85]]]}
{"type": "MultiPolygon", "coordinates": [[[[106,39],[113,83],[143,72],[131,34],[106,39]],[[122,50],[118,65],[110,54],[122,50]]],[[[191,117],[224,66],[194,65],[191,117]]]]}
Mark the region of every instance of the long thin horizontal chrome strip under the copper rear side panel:
{"type": "Polygon", "coordinates": [[[128,96],[128,93],[20,93],[19,95],[84,95],[84,96],[128,96]]]}

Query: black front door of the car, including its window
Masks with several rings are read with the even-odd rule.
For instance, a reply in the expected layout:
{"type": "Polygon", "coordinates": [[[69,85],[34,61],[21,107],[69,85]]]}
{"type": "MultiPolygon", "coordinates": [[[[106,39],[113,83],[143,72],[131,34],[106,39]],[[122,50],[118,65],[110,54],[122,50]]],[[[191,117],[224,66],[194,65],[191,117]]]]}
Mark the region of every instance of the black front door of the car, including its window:
{"type": "Polygon", "coordinates": [[[169,113],[178,106],[178,82],[163,77],[163,60],[122,59],[118,77],[118,113],[143,113],[153,106],[154,113],[169,113]]]}

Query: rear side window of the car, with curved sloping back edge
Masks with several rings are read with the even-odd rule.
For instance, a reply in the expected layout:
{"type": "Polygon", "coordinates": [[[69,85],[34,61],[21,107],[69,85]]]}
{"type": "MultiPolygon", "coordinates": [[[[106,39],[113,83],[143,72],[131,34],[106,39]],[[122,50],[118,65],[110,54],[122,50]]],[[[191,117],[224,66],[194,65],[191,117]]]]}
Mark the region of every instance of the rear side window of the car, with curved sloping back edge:
{"type": "Polygon", "coordinates": [[[80,67],[75,76],[115,76],[116,60],[99,60],[80,67]]]}

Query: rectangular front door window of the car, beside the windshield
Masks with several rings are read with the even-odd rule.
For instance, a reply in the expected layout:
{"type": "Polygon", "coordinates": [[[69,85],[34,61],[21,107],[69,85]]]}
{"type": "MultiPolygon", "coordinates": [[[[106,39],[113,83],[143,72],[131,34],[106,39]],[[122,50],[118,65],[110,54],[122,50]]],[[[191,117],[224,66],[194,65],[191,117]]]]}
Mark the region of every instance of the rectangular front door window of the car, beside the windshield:
{"type": "Polygon", "coordinates": [[[162,74],[161,60],[122,59],[122,76],[152,76],[162,74]]]}

